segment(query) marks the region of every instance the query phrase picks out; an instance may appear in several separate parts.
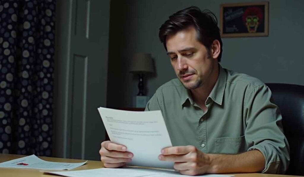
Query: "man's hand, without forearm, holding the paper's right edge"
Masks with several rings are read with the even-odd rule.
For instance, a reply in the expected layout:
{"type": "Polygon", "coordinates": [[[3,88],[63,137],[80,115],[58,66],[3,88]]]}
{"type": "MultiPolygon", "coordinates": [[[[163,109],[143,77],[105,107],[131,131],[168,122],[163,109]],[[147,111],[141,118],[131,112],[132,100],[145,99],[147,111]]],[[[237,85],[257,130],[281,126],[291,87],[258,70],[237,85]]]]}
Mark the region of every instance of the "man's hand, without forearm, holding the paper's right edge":
{"type": "Polygon", "coordinates": [[[183,175],[212,173],[209,155],[192,145],[164,148],[158,158],[162,161],[174,162],[174,169],[183,175]]]}

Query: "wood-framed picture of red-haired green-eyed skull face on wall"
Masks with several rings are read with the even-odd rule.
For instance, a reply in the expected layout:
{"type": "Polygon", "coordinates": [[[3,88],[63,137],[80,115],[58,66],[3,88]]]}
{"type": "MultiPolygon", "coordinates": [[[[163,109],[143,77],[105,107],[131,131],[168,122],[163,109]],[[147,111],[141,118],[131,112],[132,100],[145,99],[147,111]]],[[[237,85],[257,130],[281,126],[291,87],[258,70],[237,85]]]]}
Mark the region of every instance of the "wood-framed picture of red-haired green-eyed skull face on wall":
{"type": "Polygon", "coordinates": [[[222,37],[268,36],[268,2],[222,4],[222,37]]]}

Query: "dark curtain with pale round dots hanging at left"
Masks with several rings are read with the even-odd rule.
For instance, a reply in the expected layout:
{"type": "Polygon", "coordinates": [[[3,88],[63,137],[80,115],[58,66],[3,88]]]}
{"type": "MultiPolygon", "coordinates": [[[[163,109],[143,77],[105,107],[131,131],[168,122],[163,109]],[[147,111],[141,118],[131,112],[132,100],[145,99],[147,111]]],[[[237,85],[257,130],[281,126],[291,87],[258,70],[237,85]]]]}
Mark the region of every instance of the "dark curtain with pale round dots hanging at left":
{"type": "Polygon", "coordinates": [[[0,153],[52,151],[54,0],[0,0],[0,153]]]}

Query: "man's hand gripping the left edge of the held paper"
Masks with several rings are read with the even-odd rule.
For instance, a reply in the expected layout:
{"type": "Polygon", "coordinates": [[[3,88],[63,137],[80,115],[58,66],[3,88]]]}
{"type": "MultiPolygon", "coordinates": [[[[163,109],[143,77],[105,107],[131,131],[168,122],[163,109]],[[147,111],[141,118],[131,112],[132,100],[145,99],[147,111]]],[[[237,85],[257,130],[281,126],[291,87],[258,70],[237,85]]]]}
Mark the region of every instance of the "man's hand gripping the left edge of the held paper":
{"type": "Polygon", "coordinates": [[[127,151],[124,145],[118,145],[111,141],[103,141],[99,150],[100,160],[107,168],[117,168],[126,165],[132,160],[133,154],[127,151]]]}

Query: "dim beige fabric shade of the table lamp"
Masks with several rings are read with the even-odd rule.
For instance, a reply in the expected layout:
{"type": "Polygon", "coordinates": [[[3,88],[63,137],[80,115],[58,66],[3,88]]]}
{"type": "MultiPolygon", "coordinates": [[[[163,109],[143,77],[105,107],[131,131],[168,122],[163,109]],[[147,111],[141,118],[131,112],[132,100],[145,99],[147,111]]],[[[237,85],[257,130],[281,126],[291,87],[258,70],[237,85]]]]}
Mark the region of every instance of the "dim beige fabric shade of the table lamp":
{"type": "Polygon", "coordinates": [[[150,53],[136,53],[130,63],[132,73],[154,73],[153,60],[150,53]]]}

